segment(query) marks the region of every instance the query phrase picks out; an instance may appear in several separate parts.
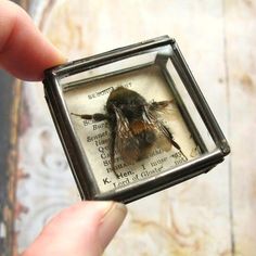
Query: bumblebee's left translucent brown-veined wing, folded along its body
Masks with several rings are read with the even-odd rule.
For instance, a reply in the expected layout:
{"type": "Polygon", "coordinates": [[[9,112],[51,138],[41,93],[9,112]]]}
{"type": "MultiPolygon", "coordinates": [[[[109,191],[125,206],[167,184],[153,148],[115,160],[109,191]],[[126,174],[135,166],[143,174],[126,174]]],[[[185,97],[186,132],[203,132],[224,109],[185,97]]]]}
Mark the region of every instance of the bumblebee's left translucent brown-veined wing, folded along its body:
{"type": "Polygon", "coordinates": [[[128,164],[133,164],[139,158],[139,141],[129,128],[129,121],[121,111],[114,107],[116,115],[116,137],[115,144],[123,159],[128,164]]]}

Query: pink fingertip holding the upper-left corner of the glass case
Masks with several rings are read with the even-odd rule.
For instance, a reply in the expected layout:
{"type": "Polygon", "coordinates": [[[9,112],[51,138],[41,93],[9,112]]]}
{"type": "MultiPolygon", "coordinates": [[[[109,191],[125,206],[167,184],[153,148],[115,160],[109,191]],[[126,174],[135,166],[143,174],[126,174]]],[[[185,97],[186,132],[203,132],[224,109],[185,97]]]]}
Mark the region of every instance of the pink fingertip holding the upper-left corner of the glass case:
{"type": "Polygon", "coordinates": [[[0,66],[24,80],[40,80],[48,67],[65,57],[40,34],[27,13],[0,1],[0,66]]]}

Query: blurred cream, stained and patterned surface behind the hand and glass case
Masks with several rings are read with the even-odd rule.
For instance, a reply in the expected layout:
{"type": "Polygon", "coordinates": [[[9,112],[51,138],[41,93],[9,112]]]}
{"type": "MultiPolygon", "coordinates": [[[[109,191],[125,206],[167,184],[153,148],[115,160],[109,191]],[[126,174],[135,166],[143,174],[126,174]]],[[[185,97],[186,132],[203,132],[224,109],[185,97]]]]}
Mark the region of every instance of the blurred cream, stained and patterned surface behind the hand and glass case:
{"type": "MultiPolygon", "coordinates": [[[[176,38],[231,145],[231,155],[207,175],[129,204],[104,255],[255,255],[256,2],[16,2],[69,60],[176,38]]],[[[0,84],[0,254],[16,256],[79,196],[42,84],[4,72],[0,84]]]]}

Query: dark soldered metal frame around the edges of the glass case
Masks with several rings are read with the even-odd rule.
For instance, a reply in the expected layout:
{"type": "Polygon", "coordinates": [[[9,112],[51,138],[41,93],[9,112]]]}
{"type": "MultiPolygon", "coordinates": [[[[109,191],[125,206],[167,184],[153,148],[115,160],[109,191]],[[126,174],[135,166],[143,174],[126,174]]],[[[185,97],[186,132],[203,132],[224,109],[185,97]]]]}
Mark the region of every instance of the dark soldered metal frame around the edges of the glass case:
{"type": "Polygon", "coordinates": [[[200,174],[207,172],[218,163],[222,162],[223,157],[230,153],[229,144],[185,63],[177,42],[168,36],[154,38],[47,69],[44,72],[43,85],[46,100],[82,200],[114,200],[129,203],[200,174]],[[101,193],[84,150],[77,141],[60,79],[164,46],[172,48],[171,62],[217,148],[214,152],[205,153],[195,159],[157,175],[157,178],[151,177],[125,188],[101,193]]]}

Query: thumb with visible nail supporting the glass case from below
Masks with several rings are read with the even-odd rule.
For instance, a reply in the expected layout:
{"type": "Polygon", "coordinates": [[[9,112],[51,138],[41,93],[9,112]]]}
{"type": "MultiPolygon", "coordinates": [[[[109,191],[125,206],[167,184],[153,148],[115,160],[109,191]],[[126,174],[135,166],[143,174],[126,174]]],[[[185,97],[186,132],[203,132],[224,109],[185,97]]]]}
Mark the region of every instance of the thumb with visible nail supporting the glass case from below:
{"type": "Polygon", "coordinates": [[[127,209],[115,202],[80,202],[56,215],[22,256],[98,256],[127,209]]]}

